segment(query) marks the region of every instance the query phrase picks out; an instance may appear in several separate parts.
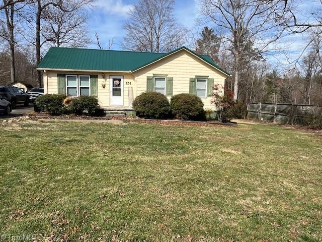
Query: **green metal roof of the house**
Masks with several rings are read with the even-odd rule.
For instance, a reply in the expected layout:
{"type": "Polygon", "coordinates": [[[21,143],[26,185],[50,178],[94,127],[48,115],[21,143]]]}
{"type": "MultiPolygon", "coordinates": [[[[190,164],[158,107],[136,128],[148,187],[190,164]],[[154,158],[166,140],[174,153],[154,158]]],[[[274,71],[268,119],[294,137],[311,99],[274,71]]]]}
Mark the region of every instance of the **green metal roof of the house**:
{"type": "MultiPolygon", "coordinates": [[[[198,55],[186,47],[191,53],[199,56],[205,62],[220,69],[209,56],[198,55]]],[[[84,48],[51,47],[38,65],[39,69],[61,70],[87,70],[87,71],[135,71],[158,59],[170,55],[170,53],[151,53],[121,50],[101,50],[84,48]]]]}

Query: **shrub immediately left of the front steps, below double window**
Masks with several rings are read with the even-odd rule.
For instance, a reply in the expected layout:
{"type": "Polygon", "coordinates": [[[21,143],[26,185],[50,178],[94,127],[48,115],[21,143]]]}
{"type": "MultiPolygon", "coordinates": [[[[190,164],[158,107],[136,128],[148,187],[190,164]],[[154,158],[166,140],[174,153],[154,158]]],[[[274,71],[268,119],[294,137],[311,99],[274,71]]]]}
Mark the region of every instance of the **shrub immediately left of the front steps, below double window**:
{"type": "Polygon", "coordinates": [[[91,96],[71,98],[68,106],[71,112],[78,115],[82,115],[84,111],[88,111],[89,115],[95,115],[99,107],[98,99],[91,96]]]}

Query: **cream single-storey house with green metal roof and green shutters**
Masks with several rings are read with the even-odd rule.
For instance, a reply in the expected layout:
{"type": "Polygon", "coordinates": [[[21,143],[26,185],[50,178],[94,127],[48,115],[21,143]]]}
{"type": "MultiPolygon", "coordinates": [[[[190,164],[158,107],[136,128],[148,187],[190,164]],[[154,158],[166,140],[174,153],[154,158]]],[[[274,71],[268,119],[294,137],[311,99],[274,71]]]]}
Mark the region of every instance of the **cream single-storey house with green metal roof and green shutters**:
{"type": "Polygon", "coordinates": [[[170,53],[51,47],[37,70],[44,71],[44,92],[97,97],[107,110],[132,110],[133,99],[146,91],[193,93],[205,109],[214,84],[230,76],[209,56],[181,47],[170,53]]]}

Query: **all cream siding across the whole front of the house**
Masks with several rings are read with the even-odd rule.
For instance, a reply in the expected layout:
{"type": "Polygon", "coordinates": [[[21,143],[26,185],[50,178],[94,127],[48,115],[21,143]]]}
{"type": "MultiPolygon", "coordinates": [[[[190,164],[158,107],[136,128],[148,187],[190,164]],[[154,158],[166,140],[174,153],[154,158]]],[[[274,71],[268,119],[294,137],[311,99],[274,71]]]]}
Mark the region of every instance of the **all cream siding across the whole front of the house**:
{"type": "MultiPolygon", "coordinates": [[[[45,93],[58,92],[57,73],[73,75],[97,75],[99,104],[104,108],[130,107],[129,87],[133,88],[134,99],[142,92],[146,92],[146,77],[153,76],[153,74],[163,74],[168,75],[168,77],[173,77],[173,95],[179,93],[189,93],[190,78],[194,78],[196,76],[208,76],[209,78],[214,79],[214,84],[220,84],[221,86],[224,85],[224,80],[226,78],[226,76],[220,71],[206,64],[201,59],[184,49],[134,73],[46,71],[44,72],[45,93]],[[104,79],[102,77],[102,73],[105,75],[104,79]],[[110,105],[110,76],[124,77],[124,105],[122,106],[110,105]],[[105,82],[105,88],[102,87],[102,82],[105,82]]],[[[170,99],[171,97],[168,98],[170,99]]],[[[211,104],[211,99],[211,97],[201,98],[201,100],[204,102],[205,109],[215,109],[214,105],[211,104]]]]}

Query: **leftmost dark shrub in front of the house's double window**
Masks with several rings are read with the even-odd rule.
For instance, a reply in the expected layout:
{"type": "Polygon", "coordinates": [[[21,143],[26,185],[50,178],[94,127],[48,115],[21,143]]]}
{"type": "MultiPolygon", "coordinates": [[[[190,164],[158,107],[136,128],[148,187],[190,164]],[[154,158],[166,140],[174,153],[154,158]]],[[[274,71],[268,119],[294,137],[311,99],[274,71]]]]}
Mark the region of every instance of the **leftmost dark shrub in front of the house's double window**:
{"type": "Polygon", "coordinates": [[[35,104],[37,110],[41,112],[48,112],[51,115],[61,115],[64,112],[65,105],[63,100],[65,95],[61,94],[45,94],[37,97],[35,104]]]}

